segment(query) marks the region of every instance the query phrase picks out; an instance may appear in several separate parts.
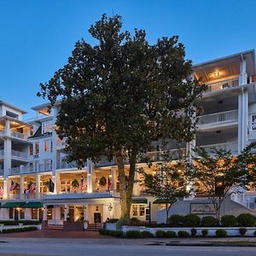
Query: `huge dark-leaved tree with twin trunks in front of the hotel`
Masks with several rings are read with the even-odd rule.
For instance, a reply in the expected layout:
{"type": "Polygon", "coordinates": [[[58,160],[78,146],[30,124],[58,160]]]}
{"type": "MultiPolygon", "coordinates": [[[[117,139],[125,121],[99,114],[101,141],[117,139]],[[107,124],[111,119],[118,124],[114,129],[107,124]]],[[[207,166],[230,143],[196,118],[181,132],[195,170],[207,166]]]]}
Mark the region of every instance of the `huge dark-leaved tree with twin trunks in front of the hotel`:
{"type": "Polygon", "coordinates": [[[38,95],[52,106],[61,100],[56,125],[58,135],[67,137],[68,160],[82,165],[88,158],[116,159],[122,216],[130,217],[137,156],[158,138],[191,140],[203,87],[176,36],[148,44],[143,30],[131,35],[121,28],[119,15],[102,15],[89,29],[97,44],[77,42],[67,65],[40,84],[38,95]]]}

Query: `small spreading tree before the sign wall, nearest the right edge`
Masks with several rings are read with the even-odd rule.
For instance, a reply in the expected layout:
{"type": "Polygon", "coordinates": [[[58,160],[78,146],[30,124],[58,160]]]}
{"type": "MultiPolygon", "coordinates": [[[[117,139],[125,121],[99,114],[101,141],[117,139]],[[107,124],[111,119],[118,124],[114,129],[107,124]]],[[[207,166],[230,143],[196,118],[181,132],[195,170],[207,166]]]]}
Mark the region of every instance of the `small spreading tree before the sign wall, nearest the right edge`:
{"type": "Polygon", "coordinates": [[[212,148],[212,154],[209,154],[204,148],[195,148],[198,155],[193,165],[195,183],[212,201],[218,224],[224,199],[241,188],[246,189],[250,182],[249,173],[255,172],[256,158],[251,151],[254,144],[236,157],[223,149],[212,148]]]}

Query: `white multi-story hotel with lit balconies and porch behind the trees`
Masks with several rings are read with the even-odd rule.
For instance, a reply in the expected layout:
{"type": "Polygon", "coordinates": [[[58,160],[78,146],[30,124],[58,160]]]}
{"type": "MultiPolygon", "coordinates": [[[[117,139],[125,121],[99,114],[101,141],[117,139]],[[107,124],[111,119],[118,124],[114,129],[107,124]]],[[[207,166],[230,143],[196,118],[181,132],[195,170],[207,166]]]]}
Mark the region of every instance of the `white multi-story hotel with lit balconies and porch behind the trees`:
{"type": "MultiPolygon", "coordinates": [[[[254,50],[195,65],[194,74],[208,86],[199,102],[204,113],[198,121],[195,141],[184,145],[184,154],[193,146],[209,152],[212,148],[224,148],[238,154],[256,140],[254,50]]],[[[48,104],[32,109],[37,117],[22,121],[25,111],[0,102],[0,218],[44,219],[49,224],[62,224],[68,218],[86,219],[90,224],[119,218],[119,177],[115,161],[102,159],[94,164],[87,160],[83,169],[67,163],[63,150],[65,140],[60,140],[55,132],[58,105],[50,113],[48,104]]],[[[175,153],[175,143],[170,143],[169,149],[175,153]]],[[[156,146],[155,151],[148,154],[152,160],[159,161],[160,148],[156,146]]],[[[125,167],[128,172],[129,166],[125,167]]],[[[226,202],[224,211],[229,214],[253,212],[255,198],[253,190],[234,195],[226,202]]],[[[170,214],[201,211],[198,209],[207,204],[207,198],[195,195],[178,201],[170,214]]],[[[135,183],[131,217],[147,220],[150,216],[152,221],[158,218],[161,222],[164,214],[165,211],[154,204],[154,198],[144,195],[140,184],[135,183]]]]}

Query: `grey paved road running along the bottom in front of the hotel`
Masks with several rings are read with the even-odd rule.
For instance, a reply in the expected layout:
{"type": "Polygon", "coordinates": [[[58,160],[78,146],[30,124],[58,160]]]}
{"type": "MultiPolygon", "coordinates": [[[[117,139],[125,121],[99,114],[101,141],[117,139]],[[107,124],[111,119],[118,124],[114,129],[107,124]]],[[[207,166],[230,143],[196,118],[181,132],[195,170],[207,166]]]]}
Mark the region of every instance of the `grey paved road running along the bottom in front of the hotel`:
{"type": "Polygon", "coordinates": [[[148,245],[148,241],[94,239],[19,239],[1,238],[0,255],[62,255],[62,256],[248,256],[255,255],[255,247],[166,247],[148,245]],[[113,241],[113,240],[112,240],[113,241]]]}

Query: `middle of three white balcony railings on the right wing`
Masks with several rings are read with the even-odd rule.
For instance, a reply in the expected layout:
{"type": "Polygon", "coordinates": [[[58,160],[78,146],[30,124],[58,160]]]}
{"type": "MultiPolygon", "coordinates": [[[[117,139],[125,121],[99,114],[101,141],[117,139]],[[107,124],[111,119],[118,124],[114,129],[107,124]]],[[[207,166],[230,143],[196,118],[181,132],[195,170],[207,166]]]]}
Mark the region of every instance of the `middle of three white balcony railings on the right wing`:
{"type": "Polygon", "coordinates": [[[198,118],[198,125],[207,125],[207,124],[214,124],[214,123],[223,123],[223,122],[230,122],[230,121],[237,121],[238,120],[238,110],[230,110],[220,113],[211,113],[201,115],[198,118]]]}

